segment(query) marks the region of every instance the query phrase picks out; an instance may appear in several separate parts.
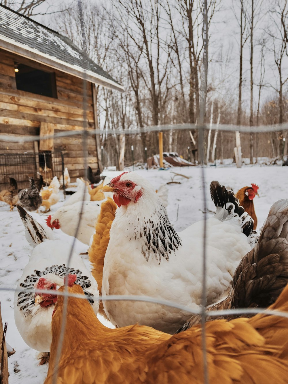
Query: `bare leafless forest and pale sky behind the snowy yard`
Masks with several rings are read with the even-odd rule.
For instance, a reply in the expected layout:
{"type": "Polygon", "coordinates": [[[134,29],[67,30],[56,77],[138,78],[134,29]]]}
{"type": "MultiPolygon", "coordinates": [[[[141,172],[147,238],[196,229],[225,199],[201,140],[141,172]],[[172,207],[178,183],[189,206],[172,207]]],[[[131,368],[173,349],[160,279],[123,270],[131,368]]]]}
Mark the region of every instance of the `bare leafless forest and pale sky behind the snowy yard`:
{"type": "MultiPolygon", "coordinates": [[[[104,165],[118,165],[124,142],[126,165],[132,162],[131,145],[134,161],[145,161],[145,147],[148,157],[158,153],[157,133],[149,128],[125,136],[113,134],[115,129],[199,124],[204,73],[199,0],[83,0],[84,43],[77,1],[1,3],[29,17],[45,15],[42,23],[70,38],[124,86],[123,93],[97,87],[104,165]]],[[[205,123],[259,126],[259,133],[241,134],[243,157],[257,162],[281,156],[287,132],[279,127],[261,133],[260,126],[288,122],[287,0],[208,0],[207,6],[205,123]],[[228,22],[232,33],[223,36],[228,22]]],[[[197,129],[192,134],[197,147],[197,129]]],[[[234,132],[207,130],[207,161],[232,158],[234,147],[234,132]]],[[[188,130],[164,132],[164,151],[193,159],[192,148],[188,130]]]]}

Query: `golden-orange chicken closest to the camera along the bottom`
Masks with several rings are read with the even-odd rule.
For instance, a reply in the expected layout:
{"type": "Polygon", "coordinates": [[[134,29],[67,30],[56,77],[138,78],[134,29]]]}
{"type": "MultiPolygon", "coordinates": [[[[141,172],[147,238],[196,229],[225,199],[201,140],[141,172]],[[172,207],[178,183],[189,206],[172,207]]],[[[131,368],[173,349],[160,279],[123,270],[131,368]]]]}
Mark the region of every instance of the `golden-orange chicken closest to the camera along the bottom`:
{"type": "MultiPolygon", "coordinates": [[[[74,277],[73,277],[74,276],[74,277]]],[[[68,292],[83,295],[68,276],[68,292]]],[[[63,292],[64,286],[57,292],[63,292]]],[[[63,296],[52,315],[52,343],[44,384],[128,384],[204,382],[202,329],[173,335],[133,325],[106,328],[86,299],[69,297],[58,369],[63,296]],[[53,378],[53,374],[57,377],[53,378]]],[[[288,311],[288,286],[270,310],[288,311]]],[[[288,383],[288,318],[258,314],[251,319],[205,324],[209,382],[288,383]]]]}

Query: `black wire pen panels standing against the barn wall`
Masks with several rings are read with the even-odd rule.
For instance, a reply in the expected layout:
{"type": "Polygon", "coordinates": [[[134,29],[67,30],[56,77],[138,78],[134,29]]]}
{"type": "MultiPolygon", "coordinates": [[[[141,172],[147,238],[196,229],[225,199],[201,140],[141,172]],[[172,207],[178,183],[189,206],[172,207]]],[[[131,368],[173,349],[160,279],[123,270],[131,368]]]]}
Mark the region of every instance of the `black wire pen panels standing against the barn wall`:
{"type": "MultiPolygon", "coordinates": [[[[0,190],[9,186],[10,177],[19,189],[28,187],[29,177],[37,180],[42,175],[45,185],[50,185],[54,176],[64,180],[64,166],[62,152],[0,154],[0,190]]],[[[64,183],[61,187],[65,191],[64,183]]]]}

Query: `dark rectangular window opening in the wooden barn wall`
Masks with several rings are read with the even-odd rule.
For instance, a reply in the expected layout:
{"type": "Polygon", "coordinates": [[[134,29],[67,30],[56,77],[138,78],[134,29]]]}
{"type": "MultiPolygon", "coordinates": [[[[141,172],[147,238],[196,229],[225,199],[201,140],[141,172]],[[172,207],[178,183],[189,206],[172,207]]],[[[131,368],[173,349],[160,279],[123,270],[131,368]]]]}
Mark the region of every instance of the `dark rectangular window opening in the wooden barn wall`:
{"type": "Polygon", "coordinates": [[[15,78],[16,87],[20,91],[57,98],[54,72],[41,71],[25,64],[15,63],[15,78]]]}

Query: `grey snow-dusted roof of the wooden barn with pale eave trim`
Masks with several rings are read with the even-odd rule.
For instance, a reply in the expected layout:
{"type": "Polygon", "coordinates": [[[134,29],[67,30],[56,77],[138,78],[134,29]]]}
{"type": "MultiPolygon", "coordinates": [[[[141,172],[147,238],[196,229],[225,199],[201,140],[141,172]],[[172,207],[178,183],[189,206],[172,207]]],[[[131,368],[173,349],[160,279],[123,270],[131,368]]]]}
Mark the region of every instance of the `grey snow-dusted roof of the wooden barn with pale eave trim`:
{"type": "Polygon", "coordinates": [[[121,84],[71,40],[3,5],[0,5],[1,47],[94,83],[123,90],[121,84]]]}

